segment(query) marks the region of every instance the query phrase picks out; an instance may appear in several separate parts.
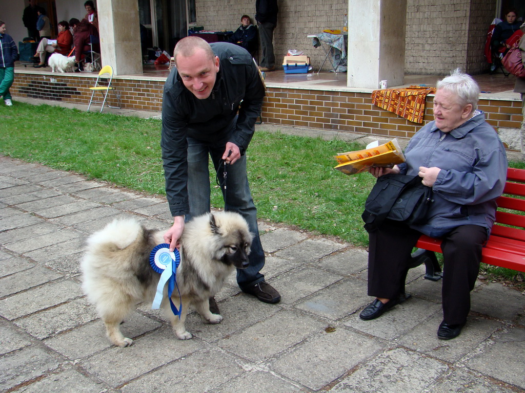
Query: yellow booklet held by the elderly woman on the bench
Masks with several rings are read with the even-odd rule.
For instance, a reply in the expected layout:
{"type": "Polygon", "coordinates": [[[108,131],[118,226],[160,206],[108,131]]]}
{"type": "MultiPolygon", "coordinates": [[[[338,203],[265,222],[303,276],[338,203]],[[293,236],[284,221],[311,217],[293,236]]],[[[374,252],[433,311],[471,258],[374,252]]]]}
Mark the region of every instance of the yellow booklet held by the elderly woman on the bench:
{"type": "Polygon", "coordinates": [[[405,156],[396,138],[383,145],[376,141],[366,146],[366,149],[340,153],[334,158],[339,162],[335,169],[346,174],[361,173],[372,167],[392,168],[405,162],[405,156]]]}

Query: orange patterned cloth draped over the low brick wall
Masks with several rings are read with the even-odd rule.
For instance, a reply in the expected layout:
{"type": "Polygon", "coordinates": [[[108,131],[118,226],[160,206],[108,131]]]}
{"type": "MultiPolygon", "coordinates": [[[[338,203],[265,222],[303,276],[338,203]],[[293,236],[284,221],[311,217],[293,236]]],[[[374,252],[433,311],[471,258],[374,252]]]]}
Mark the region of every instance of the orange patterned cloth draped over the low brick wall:
{"type": "Polygon", "coordinates": [[[435,88],[409,86],[405,89],[382,89],[372,92],[372,103],[414,123],[423,123],[427,94],[435,88]]]}

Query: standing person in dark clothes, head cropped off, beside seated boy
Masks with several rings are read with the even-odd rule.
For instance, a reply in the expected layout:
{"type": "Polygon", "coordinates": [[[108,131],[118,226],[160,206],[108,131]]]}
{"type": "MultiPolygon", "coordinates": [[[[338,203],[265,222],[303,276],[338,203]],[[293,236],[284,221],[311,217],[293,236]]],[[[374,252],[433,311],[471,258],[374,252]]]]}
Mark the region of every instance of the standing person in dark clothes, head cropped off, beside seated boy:
{"type": "Polygon", "coordinates": [[[274,29],[277,25],[277,0],[256,0],[255,19],[259,27],[262,57],[259,63],[261,71],[275,70],[274,29]]]}

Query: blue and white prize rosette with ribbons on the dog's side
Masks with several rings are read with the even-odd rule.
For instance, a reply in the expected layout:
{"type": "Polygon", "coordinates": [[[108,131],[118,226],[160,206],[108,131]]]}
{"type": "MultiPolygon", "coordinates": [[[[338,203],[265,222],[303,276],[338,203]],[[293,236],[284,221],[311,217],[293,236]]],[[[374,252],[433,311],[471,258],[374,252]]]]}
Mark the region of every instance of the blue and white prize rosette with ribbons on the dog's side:
{"type": "Polygon", "coordinates": [[[150,253],[150,265],[156,272],[161,274],[159,283],[157,285],[157,291],[155,293],[155,298],[153,299],[153,304],[151,308],[156,310],[161,307],[162,297],[164,286],[167,282],[167,296],[170,300],[171,310],[175,315],[178,315],[178,318],[181,318],[182,312],[182,298],[181,292],[178,290],[177,285],[177,267],[181,263],[181,255],[178,253],[178,250],[175,248],[173,252],[170,251],[170,245],[167,243],[162,243],[153,247],[150,253]],[[171,300],[171,295],[173,289],[177,287],[178,298],[181,299],[181,304],[177,308],[173,301],[171,300]]]}

